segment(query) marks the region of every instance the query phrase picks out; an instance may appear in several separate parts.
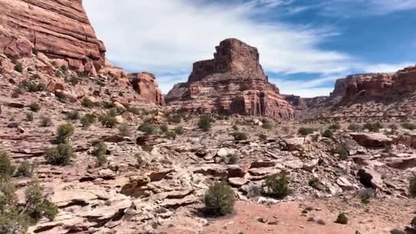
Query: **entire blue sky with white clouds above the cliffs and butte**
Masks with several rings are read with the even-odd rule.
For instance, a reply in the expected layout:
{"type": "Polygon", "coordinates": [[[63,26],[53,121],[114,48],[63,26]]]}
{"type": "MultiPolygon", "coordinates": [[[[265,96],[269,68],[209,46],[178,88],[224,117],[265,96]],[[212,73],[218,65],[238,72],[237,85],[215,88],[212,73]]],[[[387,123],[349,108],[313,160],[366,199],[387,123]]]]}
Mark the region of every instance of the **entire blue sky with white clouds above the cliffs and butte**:
{"type": "Polygon", "coordinates": [[[336,79],[416,64],[416,0],[84,0],[107,58],[155,73],[167,93],[225,38],[257,47],[281,93],[328,95],[336,79]]]}

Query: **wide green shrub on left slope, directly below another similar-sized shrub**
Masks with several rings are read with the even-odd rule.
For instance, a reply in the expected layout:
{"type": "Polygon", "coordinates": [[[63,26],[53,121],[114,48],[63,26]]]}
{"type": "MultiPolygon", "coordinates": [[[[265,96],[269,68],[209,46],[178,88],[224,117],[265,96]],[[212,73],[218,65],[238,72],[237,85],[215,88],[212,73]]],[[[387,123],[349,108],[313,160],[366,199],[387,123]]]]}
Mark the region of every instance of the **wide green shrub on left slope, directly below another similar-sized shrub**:
{"type": "Polygon", "coordinates": [[[70,158],[74,156],[73,148],[70,144],[58,144],[53,148],[47,149],[44,159],[48,164],[65,166],[69,164],[70,158]]]}

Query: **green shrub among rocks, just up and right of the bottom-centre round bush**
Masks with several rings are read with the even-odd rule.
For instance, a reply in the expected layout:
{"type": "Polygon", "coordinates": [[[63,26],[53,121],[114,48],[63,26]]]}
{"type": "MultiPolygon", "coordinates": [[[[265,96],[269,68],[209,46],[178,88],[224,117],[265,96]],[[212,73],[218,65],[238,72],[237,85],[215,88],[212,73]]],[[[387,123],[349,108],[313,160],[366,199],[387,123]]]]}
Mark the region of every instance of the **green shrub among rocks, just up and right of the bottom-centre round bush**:
{"type": "Polygon", "coordinates": [[[273,198],[283,199],[291,193],[289,178],[285,175],[273,174],[265,179],[261,187],[265,195],[273,198]]]}

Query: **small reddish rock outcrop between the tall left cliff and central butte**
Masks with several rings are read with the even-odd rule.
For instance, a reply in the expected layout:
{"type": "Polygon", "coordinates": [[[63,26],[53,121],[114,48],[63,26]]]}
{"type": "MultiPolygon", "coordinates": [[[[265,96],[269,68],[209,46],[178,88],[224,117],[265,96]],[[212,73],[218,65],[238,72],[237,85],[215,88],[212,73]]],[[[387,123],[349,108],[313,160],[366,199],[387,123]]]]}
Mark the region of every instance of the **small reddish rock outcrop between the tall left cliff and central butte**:
{"type": "Polygon", "coordinates": [[[147,101],[157,105],[164,105],[164,96],[157,86],[156,77],[152,73],[133,73],[128,75],[133,89],[147,101]]]}

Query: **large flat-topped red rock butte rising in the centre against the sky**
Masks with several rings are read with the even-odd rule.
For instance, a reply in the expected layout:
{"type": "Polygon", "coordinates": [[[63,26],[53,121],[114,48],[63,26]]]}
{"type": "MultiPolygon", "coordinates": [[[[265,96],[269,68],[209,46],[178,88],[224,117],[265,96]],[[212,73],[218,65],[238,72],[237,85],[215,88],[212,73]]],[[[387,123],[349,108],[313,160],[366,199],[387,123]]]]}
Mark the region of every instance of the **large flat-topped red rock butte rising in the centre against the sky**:
{"type": "Polygon", "coordinates": [[[178,83],[166,102],[190,112],[294,118],[294,109],[264,74],[255,47],[226,39],[213,60],[194,63],[186,83],[178,83]]]}

